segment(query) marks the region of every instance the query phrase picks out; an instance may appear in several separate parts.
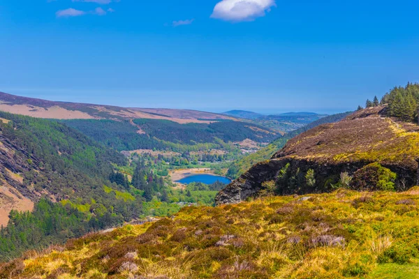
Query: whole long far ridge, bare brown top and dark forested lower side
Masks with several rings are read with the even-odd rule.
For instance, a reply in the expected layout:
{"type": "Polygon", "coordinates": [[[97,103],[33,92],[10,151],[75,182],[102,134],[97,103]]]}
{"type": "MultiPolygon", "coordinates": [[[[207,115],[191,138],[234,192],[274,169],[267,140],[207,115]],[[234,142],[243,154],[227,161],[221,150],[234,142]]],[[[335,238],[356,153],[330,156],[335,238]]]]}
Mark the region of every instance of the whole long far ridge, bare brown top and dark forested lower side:
{"type": "Polygon", "coordinates": [[[118,151],[224,150],[245,140],[266,144],[279,136],[256,123],[211,112],[55,102],[7,93],[0,93],[0,111],[59,119],[118,151]]]}

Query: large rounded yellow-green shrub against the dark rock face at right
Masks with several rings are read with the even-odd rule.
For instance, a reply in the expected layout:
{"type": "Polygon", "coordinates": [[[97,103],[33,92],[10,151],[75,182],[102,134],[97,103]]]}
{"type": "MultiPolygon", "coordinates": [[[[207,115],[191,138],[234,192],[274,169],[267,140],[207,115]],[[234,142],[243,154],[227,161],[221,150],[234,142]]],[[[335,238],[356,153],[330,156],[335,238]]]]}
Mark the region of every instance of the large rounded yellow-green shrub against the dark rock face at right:
{"type": "Polygon", "coordinates": [[[351,186],[355,190],[394,190],[396,177],[390,169],[372,163],[353,174],[351,186]]]}

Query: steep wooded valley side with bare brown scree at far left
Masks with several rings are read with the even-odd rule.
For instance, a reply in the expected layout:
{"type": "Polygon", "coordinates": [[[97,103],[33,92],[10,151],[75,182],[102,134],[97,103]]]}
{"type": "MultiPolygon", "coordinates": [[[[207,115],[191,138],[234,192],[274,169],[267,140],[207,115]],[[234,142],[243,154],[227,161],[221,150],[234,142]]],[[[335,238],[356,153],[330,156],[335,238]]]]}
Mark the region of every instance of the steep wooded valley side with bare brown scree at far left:
{"type": "Polygon", "coordinates": [[[57,121],[0,119],[0,261],[142,213],[142,199],[110,182],[122,154],[57,121]]]}

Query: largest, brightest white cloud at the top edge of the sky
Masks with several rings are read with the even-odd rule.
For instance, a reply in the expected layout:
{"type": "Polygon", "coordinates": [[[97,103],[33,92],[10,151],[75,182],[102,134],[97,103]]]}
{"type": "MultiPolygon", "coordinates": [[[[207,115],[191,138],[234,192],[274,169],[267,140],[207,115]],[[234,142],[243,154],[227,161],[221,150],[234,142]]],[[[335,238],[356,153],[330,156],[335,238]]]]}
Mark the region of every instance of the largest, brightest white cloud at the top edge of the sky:
{"type": "Polygon", "coordinates": [[[216,3],[211,17],[232,22],[254,20],[276,6],[275,0],[222,0],[216,3]]]}

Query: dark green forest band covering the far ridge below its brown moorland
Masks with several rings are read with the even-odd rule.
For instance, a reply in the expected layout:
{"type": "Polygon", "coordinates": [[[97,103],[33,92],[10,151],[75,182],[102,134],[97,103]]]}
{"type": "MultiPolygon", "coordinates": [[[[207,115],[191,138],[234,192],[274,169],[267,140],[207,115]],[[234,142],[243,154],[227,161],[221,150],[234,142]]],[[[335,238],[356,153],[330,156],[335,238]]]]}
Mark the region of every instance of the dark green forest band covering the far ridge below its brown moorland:
{"type": "Polygon", "coordinates": [[[135,119],[133,123],[78,119],[64,123],[118,151],[156,149],[186,152],[230,149],[228,142],[246,139],[272,142],[278,136],[262,126],[238,121],[179,124],[158,119],[135,119]],[[139,130],[142,130],[142,133],[138,133],[139,130]]]}

